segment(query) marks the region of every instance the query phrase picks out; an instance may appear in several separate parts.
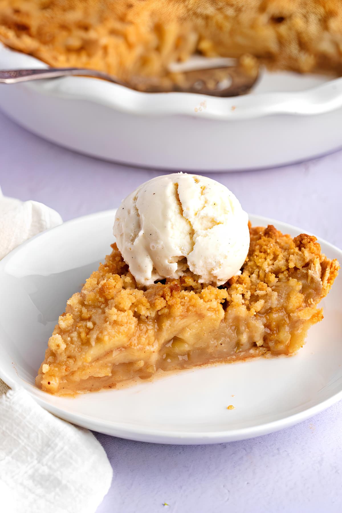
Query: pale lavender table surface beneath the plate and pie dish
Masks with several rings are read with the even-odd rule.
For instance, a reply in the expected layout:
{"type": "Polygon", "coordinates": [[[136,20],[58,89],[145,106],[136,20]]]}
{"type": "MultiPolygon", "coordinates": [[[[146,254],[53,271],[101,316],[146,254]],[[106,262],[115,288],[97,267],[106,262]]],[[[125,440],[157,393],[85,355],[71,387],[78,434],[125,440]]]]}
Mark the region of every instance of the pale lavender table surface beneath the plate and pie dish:
{"type": "MultiPolygon", "coordinates": [[[[64,221],[115,208],[137,185],[163,174],[58,148],[1,113],[0,155],[3,193],[43,202],[64,221]]],[[[337,152],[278,169],[209,176],[248,212],[342,247],[341,167],[337,152]]],[[[342,401],[295,427],[228,444],[168,446],[96,436],[114,470],[97,513],[341,511],[342,401]]]]}

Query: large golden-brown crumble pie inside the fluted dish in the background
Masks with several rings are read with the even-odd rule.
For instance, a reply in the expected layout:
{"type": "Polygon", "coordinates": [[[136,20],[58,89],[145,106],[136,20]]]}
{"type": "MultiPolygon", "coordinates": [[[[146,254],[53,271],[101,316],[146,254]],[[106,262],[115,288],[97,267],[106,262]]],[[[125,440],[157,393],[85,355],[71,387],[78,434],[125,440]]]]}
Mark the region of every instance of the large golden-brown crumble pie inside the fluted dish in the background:
{"type": "Polygon", "coordinates": [[[124,80],[194,52],[342,73],[340,0],[0,0],[0,40],[52,66],[124,80]]]}

